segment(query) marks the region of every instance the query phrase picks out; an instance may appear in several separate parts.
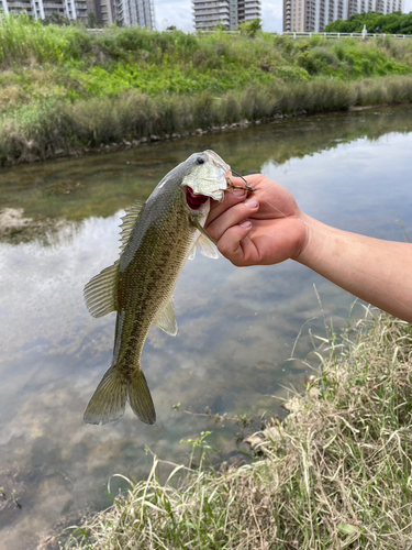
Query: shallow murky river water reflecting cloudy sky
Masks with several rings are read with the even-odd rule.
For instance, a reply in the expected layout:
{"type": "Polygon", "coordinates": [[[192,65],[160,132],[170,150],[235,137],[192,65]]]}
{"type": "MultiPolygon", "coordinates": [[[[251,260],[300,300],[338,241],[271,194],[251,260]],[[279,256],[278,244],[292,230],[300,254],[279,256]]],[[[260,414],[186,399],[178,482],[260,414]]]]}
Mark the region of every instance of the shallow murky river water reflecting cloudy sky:
{"type": "MultiPolygon", "coordinates": [[[[175,293],[177,338],[153,328],[143,353],[156,425],[143,425],[130,408],[108,426],[82,424],[111,361],[115,319],[89,316],[83,285],[118,257],[122,209],[204,148],[237,172],[278,180],[326,223],[402,241],[402,220],[412,235],[407,108],[290,120],[0,172],[0,209],[3,220],[4,209],[13,209],[5,212],[14,220],[0,235],[0,547],[34,548],[56,527],[110,505],[111,475],[147,473],[145,446],[186,460],[190,449],[180,440],[212,429],[221,457],[234,454],[238,427],[183,410],[279,414],[274,396],[285,396],[283,386],[303,386],[304,364],[288,361],[300,328],[313,318],[297,346],[302,359],[311,350],[308,330],[323,332],[313,285],[326,319],[346,323],[353,296],[303,266],[238,270],[198,255],[175,293]]],[[[114,480],[113,492],[118,486],[114,480]]]]}

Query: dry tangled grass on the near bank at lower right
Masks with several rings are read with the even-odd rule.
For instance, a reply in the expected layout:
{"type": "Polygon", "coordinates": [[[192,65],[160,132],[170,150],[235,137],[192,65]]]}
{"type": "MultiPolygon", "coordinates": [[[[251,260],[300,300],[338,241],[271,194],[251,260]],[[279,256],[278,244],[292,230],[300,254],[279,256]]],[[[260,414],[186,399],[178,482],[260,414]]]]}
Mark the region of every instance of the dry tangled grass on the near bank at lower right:
{"type": "MultiPolygon", "coordinates": [[[[305,395],[255,438],[256,460],[171,466],[70,528],[65,548],[410,549],[412,543],[412,329],[387,315],[332,331],[305,395]],[[256,443],[257,441],[257,443],[256,443]],[[185,474],[183,474],[185,472],[185,474]],[[182,475],[183,474],[183,475],[182,475]]],[[[167,464],[167,463],[166,463],[167,464]]],[[[67,532],[66,532],[67,537],[67,532]]]]}

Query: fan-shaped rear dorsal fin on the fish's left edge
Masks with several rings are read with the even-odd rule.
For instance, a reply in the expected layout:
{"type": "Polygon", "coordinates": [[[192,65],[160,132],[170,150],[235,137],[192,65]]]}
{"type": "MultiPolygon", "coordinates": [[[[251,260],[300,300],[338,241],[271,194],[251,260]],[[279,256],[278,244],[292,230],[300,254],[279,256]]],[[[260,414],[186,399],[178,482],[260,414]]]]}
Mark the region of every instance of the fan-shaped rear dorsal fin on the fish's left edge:
{"type": "Polygon", "coordinates": [[[103,317],[118,310],[119,260],[85,286],[85,300],[93,317],[103,317]]]}

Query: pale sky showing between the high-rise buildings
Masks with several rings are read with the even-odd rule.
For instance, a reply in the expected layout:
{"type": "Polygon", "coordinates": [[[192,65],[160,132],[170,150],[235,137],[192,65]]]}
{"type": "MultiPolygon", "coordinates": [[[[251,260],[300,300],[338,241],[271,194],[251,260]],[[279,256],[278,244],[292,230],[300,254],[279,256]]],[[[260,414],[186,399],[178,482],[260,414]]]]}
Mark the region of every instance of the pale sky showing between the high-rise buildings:
{"type": "MultiPolygon", "coordinates": [[[[190,0],[154,0],[156,25],[159,31],[176,25],[181,31],[193,31],[193,15],[190,0]]],[[[412,0],[405,0],[405,12],[412,11],[412,0]]],[[[261,0],[264,31],[281,32],[282,0],[261,0]]]]}

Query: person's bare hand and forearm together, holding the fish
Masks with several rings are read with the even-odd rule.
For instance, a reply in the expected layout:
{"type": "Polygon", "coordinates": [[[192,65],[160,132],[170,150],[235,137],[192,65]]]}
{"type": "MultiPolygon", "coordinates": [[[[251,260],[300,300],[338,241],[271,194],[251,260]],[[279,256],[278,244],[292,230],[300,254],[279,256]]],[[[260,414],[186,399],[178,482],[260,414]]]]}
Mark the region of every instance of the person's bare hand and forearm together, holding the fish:
{"type": "MultiPolygon", "coordinates": [[[[213,201],[207,231],[238,267],[291,258],[363,300],[412,323],[412,244],[342,231],[304,213],[281,185],[246,176],[255,191],[213,201]]],[[[233,178],[235,186],[244,186],[233,178]]]]}

